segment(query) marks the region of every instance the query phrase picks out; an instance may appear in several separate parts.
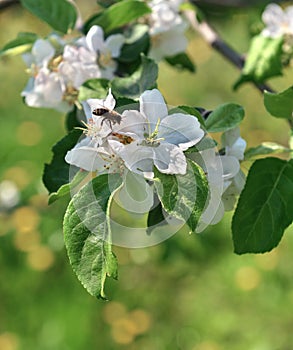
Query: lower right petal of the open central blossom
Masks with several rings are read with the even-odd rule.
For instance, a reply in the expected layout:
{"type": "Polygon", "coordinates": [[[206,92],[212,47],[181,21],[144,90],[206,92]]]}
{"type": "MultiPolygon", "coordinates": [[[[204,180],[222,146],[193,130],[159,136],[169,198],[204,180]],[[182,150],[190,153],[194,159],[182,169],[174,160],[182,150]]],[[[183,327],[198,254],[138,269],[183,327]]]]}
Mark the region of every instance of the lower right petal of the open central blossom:
{"type": "Polygon", "coordinates": [[[160,144],[154,149],[154,164],[164,174],[186,174],[186,158],[182,150],[171,144],[160,144]]]}

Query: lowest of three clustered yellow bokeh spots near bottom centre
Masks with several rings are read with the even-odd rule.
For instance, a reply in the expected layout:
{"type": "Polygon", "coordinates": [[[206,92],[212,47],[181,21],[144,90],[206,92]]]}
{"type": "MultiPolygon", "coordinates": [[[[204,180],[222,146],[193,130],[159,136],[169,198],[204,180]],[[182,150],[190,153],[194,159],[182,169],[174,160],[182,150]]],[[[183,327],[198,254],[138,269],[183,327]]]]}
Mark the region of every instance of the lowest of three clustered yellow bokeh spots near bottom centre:
{"type": "Polygon", "coordinates": [[[120,318],[113,324],[111,334],[116,343],[130,344],[136,334],[135,323],[127,317],[120,318]]]}

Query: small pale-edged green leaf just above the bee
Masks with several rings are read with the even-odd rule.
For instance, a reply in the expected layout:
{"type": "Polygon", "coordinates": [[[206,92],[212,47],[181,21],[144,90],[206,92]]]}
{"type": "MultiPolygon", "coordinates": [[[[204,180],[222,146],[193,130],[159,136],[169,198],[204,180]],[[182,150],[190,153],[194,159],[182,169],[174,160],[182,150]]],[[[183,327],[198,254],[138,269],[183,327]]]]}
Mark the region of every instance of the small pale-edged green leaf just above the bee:
{"type": "Polygon", "coordinates": [[[109,90],[109,80],[90,79],[79,88],[78,100],[86,101],[89,98],[105,98],[109,90]]]}

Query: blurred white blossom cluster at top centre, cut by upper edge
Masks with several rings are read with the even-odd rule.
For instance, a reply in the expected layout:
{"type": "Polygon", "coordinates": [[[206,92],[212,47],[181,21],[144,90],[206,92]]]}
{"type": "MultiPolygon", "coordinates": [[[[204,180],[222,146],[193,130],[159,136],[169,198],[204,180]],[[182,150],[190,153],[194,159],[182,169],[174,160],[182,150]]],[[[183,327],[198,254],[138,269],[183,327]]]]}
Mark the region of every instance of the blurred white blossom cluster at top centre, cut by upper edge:
{"type": "Polygon", "coordinates": [[[151,0],[148,5],[149,34],[151,48],[149,56],[155,61],[184,52],[187,39],[184,32],[187,22],[182,18],[179,8],[184,0],[151,0]]]}

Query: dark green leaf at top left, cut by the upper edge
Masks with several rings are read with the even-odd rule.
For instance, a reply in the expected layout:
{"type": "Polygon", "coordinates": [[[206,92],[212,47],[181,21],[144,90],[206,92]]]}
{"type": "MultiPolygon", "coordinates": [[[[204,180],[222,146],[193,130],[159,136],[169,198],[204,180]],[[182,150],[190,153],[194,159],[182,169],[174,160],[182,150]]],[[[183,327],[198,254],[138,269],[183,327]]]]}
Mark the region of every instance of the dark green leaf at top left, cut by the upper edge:
{"type": "Polygon", "coordinates": [[[77,19],[76,8],[67,0],[21,0],[22,5],[53,29],[66,34],[77,19]]]}

